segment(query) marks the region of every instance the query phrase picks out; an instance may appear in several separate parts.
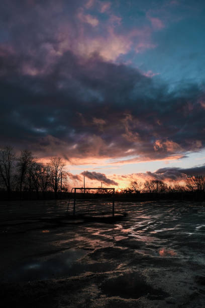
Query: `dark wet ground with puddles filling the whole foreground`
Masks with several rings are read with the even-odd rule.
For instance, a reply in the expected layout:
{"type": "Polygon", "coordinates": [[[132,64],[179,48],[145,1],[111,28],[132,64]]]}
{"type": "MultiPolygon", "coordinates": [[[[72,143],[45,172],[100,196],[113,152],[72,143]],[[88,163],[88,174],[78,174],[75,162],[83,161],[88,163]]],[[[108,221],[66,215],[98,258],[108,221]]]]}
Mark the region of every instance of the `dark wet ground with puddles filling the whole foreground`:
{"type": "Polygon", "coordinates": [[[205,306],[204,202],[66,206],[0,204],[1,307],[205,306]]]}

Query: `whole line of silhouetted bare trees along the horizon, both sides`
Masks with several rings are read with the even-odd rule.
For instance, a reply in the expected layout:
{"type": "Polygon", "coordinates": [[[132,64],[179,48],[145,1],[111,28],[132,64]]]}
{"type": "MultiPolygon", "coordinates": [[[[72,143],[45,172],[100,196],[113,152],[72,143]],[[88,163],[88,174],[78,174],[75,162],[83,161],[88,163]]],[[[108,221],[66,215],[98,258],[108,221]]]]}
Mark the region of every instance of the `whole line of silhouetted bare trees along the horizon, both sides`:
{"type": "MultiPolygon", "coordinates": [[[[37,198],[46,197],[52,192],[55,198],[59,192],[68,192],[68,177],[65,163],[60,157],[52,157],[47,163],[39,162],[33,153],[27,149],[17,155],[12,146],[0,148],[0,192],[7,192],[10,199],[11,193],[16,192],[20,198],[25,195],[30,197],[35,193],[37,198]]],[[[82,189],[83,192],[83,189],[82,189]]],[[[86,191],[88,193],[88,191],[86,191]]],[[[146,180],[144,183],[133,180],[126,189],[121,190],[121,195],[127,194],[180,194],[199,193],[204,198],[205,176],[193,175],[185,180],[184,185],[175,184],[168,186],[160,180],[146,180]]],[[[107,194],[99,188],[97,194],[107,194]]],[[[61,194],[60,194],[61,195],[61,194]]]]}

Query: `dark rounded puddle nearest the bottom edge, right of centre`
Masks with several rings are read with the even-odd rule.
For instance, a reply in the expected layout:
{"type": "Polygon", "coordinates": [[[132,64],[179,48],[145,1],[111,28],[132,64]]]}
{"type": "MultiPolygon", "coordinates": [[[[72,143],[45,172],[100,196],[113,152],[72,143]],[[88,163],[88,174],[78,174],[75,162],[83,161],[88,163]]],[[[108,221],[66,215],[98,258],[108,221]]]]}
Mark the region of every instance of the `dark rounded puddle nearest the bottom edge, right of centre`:
{"type": "Polygon", "coordinates": [[[148,294],[152,294],[152,299],[164,299],[169,296],[161,289],[154,289],[142,275],[136,272],[105,280],[101,284],[101,291],[108,296],[121,298],[140,298],[148,294]]]}

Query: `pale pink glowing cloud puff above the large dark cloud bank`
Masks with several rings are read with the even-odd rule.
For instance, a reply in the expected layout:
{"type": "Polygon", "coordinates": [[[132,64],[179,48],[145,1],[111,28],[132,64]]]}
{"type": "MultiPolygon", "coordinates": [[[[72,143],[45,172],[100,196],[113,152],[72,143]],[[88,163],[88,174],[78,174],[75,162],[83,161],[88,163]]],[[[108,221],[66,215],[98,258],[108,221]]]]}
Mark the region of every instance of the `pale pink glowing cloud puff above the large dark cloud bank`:
{"type": "Polygon", "coordinates": [[[77,35],[73,36],[72,28],[65,26],[57,34],[59,39],[58,53],[63,54],[67,50],[72,50],[75,54],[83,57],[90,57],[93,53],[99,54],[105,60],[116,60],[120,55],[126,54],[132,47],[132,35],[119,34],[115,31],[115,26],[111,26],[110,22],[102,27],[105,30],[104,36],[97,34],[88,34],[84,23],[90,24],[93,28],[98,25],[95,18],[78,13],[78,18],[81,20],[81,25],[77,31],[77,35]]]}

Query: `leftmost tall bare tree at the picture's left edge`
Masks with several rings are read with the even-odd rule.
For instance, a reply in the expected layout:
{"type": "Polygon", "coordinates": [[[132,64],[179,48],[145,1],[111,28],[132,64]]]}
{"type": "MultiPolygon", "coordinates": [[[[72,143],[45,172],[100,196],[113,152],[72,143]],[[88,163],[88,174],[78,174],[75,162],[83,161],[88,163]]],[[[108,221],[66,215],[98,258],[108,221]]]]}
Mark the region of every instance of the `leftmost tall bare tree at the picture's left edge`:
{"type": "Polygon", "coordinates": [[[11,146],[5,146],[0,149],[0,177],[5,185],[8,198],[10,198],[11,186],[14,180],[14,165],[16,162],[16,153],[11,146]]]}

